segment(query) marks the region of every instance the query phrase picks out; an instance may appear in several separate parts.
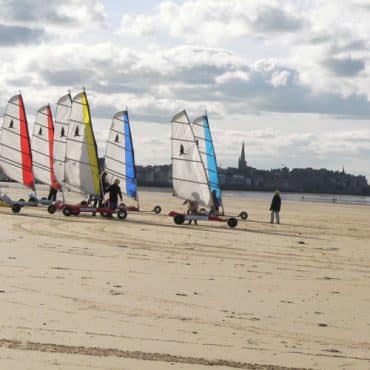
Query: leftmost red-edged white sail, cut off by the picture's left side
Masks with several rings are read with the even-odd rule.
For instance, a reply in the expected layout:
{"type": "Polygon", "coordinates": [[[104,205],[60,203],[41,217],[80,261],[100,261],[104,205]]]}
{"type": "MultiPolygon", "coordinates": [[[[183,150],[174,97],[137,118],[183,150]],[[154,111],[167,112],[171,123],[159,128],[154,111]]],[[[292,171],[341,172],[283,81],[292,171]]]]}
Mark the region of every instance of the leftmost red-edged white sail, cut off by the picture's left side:
{"type": "Polygon", "coordinates": [[[6,176],[34,188],[32,153],[22,95],[15,95],[6,107],[0,136],[0,165],[6,176]]]}

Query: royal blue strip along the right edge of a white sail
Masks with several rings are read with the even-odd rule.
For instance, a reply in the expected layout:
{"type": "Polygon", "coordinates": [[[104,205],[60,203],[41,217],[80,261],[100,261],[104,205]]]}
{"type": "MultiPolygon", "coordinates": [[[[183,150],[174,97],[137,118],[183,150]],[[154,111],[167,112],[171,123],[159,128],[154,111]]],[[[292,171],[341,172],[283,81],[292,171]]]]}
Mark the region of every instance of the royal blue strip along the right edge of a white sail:
{"type": "Polygon", "coordinates": [[[137,195],[136,186],[136,169],[135,169],[135,156],[134,148],[132,145],[132,136],[130,129],[130,122],[128,112],[123,112],[123,124],[125,133],[125,172],[126,172],[126,194],[129,197],[135,198],[137,195]]]}

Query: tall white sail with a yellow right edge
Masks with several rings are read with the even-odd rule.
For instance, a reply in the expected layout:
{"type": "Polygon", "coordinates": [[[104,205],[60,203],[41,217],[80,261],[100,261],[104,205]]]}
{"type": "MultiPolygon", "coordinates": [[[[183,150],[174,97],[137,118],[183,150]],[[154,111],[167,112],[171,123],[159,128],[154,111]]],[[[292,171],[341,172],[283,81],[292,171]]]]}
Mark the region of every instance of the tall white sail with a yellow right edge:
{"type": "Polygon", "coordinates": [[[85,91],[72,100],[65,161],[67,186],[82,193],[102,195],[98,152],[85,91]]]}

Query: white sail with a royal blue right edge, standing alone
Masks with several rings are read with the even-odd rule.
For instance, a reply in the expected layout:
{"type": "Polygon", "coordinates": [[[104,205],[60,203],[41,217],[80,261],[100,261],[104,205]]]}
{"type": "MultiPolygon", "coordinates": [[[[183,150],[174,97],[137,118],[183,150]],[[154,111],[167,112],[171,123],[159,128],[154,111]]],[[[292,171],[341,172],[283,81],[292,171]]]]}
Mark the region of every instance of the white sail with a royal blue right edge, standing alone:
{"type": "Polygon", "coordinates": [[[105,171],[109,183],[120,180],[124,194],[137,199],[134,148],[127,111],[114,115],[105,153],[105,171]]]}

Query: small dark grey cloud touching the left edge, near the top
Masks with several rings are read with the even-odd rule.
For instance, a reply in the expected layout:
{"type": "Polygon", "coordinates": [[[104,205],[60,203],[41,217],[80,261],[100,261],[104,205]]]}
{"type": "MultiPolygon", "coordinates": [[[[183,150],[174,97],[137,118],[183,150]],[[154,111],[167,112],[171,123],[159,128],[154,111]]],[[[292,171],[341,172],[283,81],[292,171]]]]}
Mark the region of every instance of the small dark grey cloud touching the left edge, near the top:
{"type": "Polygon", "coordinates": [[[0,46],[15,46],[19,44],[36,44],[45,37],[41,28],[22,26],[6,26],[0,24],[0,46]]]}

